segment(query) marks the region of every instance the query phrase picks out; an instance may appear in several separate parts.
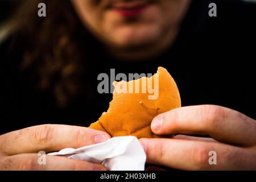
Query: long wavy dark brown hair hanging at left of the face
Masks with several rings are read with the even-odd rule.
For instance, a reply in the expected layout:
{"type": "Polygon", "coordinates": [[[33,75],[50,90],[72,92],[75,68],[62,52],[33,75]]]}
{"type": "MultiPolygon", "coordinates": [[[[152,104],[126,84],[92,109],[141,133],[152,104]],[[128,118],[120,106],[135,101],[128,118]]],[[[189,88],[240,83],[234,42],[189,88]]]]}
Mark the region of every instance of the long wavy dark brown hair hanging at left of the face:
{"type": "Polygon", "coordinates": [[[84,40],[92,38],[71,1],[26,0],[14,15],[13,24],[11,50],[23,50],[20,70],[34,74],[36,88],[52,92],[61,107],[85,91],[81,84],[86,72],[82,63],[84,40]],[[41,2],[47,5],[45,18],[38,16],[41,2]]]}

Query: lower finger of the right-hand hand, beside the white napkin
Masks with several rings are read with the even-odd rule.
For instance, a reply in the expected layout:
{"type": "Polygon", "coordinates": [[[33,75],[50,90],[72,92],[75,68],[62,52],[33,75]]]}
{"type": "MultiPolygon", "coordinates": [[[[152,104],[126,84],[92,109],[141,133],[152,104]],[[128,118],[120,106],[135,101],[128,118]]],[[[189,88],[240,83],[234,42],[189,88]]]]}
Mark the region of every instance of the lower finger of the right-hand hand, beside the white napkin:
{"type": "MultiPolygon", "coordinates": [[[[181,139],[141,139],[147,162],[182,170],[240,170],[253,165],[251,154],[240,147],[181,139]],[[214,164],[216,152],[216,164],[214,164]],[[243,156],[243,158],[241,158],[243,156]],[[210,162],[209,162],[210,160],[210,162]]],[[[254,156],[255,159],[255,156],[254,156]]]]}

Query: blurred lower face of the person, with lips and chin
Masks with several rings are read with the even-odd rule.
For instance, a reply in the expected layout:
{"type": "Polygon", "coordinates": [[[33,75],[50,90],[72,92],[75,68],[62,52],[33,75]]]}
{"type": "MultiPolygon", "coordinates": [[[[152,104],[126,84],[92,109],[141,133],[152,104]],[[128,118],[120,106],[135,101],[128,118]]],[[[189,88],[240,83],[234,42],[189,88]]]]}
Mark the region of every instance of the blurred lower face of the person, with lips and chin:
{"type": "Polygon", "coordinates": [[[191,0],[71,0],[82,22],[115,54],[147,57],[170,45],[191,0]]]}

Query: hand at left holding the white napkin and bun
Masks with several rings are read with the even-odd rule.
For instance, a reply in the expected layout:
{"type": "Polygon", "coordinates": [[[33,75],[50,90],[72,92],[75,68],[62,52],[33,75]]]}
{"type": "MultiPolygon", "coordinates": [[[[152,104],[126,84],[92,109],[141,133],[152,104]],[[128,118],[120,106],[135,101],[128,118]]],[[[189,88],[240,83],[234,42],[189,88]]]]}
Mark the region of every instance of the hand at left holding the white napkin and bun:
{"type": "Polygon", "coordinates": [[[38,164],[38,152],[78,148],[108,140],[108,134],[79,126],[39,125],[0,135],[0,170],[106,170],[101,164],[46,155],[38,164]]]}

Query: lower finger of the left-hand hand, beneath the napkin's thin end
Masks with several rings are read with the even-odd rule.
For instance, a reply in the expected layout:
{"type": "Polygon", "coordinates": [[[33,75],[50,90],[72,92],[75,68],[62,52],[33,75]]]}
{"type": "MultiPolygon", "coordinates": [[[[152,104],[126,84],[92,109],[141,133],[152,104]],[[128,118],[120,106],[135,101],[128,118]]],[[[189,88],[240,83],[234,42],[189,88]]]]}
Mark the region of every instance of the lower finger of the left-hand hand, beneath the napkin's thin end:
{"type": "MultiPolygon", "coordinates": [[[[41,156],[42,157],[42,156],[41,156]]],[[[105,171],[101,164],[93,164],[82,160],[73,160],[60,156],[46,155],[45,163],[39,163],[36,154],[19,154],[7,156],[0,161],[0,170],[15,171],[105,171]]]]}

